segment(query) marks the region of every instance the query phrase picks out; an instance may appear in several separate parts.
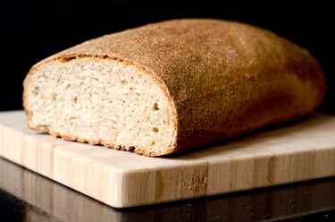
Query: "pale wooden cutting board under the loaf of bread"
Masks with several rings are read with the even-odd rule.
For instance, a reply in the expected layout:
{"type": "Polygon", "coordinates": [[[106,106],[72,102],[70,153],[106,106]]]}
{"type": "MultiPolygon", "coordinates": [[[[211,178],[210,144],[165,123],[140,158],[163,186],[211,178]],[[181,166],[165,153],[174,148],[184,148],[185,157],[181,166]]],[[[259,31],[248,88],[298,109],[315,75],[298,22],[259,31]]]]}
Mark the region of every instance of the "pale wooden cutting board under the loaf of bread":
{"type": "Polygon", "coordinates": [[[112,207],[134,207],[335,175],[335,115],[147,158],[33,132],[23,111],[2,112],[0,156],[112,207]]]}

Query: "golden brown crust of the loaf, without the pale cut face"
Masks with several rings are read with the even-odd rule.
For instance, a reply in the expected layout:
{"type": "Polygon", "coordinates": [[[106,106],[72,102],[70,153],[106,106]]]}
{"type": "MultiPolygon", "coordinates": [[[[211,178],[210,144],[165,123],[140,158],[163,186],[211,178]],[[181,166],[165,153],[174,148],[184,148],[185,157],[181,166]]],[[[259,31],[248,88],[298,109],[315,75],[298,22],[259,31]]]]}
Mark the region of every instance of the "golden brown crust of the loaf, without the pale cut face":
{"type": "Polygon", "coordinates": [[[306,49],[234,21],[149,24],[92,39],[41,63],[81,56],[135,65],[165,89],[176,109],[172,152],[306,115],[325,94],[322,70],[306,49]]]}

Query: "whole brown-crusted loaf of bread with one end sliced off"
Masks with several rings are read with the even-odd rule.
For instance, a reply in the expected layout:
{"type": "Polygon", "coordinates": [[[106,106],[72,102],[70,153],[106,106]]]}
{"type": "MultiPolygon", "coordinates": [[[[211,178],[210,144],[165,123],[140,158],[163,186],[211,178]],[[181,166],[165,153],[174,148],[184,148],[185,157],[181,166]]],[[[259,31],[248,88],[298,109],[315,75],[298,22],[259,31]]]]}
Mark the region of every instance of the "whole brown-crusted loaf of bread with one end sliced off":
{"type": "Polygon", "coordinates": [[[86,41],[29,71],[29,128],[161,156],[306,115],[325,79],[304,48],[235,21],[182,19],[86,41]]]}

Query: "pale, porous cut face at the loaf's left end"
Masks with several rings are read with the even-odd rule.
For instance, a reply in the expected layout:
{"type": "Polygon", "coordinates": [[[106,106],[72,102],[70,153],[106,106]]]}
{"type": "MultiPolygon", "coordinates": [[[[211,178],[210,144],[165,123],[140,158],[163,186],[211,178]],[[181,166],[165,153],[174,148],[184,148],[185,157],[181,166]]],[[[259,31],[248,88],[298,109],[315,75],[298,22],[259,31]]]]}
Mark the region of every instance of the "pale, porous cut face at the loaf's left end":
{"type": "Polygon", "coordinates": [[[29,128],[145,156],[173,152],[176,114],[153,74],[92,57],[54,60],[31,72],[24,82],[29,128]]]}

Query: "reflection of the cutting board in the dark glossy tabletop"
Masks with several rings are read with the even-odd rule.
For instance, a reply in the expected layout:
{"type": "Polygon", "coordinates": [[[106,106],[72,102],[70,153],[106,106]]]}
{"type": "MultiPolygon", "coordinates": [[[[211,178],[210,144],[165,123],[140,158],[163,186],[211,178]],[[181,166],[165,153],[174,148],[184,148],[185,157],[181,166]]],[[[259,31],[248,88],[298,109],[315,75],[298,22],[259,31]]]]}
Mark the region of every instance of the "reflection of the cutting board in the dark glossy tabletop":
{"type": "Polygon", "coordinates": [[[110,208],[4,158],[0,158],[0,178],[4,178],[0,179],[0,193],[4,190],[28,203],[26,222],[163,222],[199,221],[199,218],[200,221],[279,221],[335,209],[335,177],[213,199],[122,210],[110,208]]]}

